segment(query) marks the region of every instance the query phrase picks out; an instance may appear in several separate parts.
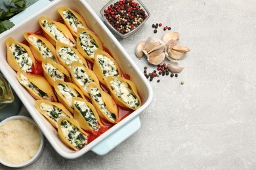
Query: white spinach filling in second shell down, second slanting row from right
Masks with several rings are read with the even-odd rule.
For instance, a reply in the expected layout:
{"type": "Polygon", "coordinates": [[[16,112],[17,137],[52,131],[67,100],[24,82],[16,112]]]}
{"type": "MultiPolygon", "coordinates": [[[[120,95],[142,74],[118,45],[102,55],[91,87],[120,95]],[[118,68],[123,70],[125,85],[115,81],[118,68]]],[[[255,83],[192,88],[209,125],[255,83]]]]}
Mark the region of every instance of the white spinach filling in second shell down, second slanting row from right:
{"type": "Polygon", "coordinates": [[[74,61],[78,61],[79,63],[83,64],[83,61],[77,56],[77,54],[69,48],[68,46],[63,46],[60,49],[58,49],[58,54],[60,58],[68,65],[71,67],[72,63],[74,61]]]}

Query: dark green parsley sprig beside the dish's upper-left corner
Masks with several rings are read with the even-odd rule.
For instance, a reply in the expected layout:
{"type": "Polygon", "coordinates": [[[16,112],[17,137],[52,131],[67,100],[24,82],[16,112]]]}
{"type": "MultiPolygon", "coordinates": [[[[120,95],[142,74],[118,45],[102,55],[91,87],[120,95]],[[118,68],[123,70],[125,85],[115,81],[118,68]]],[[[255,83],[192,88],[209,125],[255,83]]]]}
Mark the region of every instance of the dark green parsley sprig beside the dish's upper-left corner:
{"type": "Polygon", "coordinates": [[[0,33],[10,29],[14,24],[9,20],[12,16],[31,5],[27,0],[3,0],[0,4],[0,33]]]}

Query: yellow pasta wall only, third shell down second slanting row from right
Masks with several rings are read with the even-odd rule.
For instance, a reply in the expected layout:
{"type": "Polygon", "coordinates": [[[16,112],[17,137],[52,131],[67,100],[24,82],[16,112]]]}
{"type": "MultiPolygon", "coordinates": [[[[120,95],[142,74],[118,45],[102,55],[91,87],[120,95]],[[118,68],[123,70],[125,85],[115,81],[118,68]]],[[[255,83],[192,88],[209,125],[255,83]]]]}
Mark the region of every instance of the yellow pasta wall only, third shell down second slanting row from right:
{"type": "MultiPolygon", "coordinates": [[[[88,98],[91,98],[91,96],[89,95],[89,92],[86,92],[86,90],[81,86],[81,84],[79,84],[78,80],[75,78],[75,73],[74,73],[74,67],[83,67],[83,70],[85,71],[85,73],[87,73],[87,75],[90,76],[90,78],[96,83],[98,84],[98,86],[100,85],[100,82],[98,81],[98,78],[97,76],[95,75],[95,73],[91,70],[91,69],[88,69],[86,67],[84,67],[81,63],[75,61],[74,63],[72,63],[71,65],[71,69],[70,69],[70,75],[72,77],[72,82],[74,82],[74,84],[76,84],[80,89],[81,91],[83,92],[83,94],[88,97],[88,98]]],[[[89,83],[88,83],[89,84],[89,83]]],[[[87,84],[87,86],[88,86],[87,84]]]]}

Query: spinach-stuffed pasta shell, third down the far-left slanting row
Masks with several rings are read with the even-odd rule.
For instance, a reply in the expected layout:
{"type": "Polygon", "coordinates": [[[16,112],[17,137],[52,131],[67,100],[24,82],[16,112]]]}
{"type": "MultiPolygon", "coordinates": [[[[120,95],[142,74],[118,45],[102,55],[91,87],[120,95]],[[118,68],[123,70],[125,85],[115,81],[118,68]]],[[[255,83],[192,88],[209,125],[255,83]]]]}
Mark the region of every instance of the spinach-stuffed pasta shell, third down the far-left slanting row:
{"type": "Polygon", "coordinates": [[[54,127],[58,128],[58,120],[62,117],[73,118],[72,114],[64,105],[58,102],[47,100],[35,101],[35,108],[50,122],[54,127]]]}

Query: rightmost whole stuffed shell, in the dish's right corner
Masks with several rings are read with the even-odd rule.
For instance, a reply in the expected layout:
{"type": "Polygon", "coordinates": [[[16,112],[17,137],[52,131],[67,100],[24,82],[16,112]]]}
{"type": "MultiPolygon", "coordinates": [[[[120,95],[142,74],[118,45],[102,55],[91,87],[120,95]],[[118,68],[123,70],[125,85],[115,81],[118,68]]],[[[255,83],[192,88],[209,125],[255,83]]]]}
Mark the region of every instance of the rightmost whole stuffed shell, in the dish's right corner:
{"type": "Polygon", "coordinates": [[[106,84],[117,105],[133,110],[140,107],[141,101],[134,82],[120,76],[108,76],[106,84]]]}

